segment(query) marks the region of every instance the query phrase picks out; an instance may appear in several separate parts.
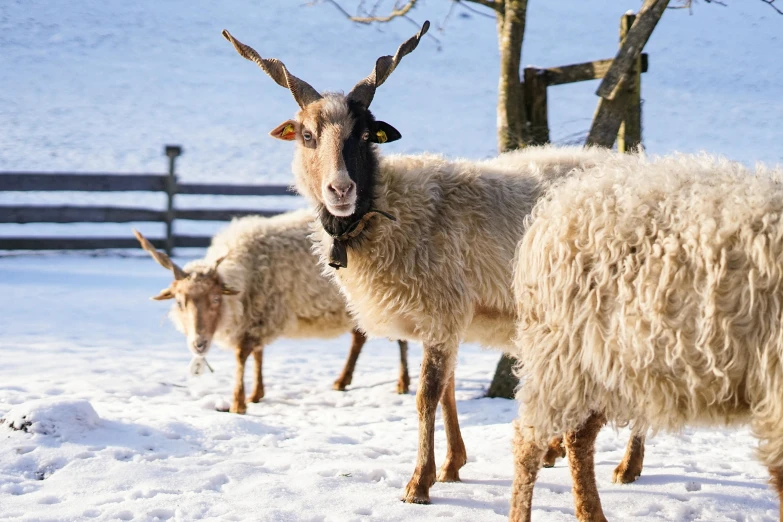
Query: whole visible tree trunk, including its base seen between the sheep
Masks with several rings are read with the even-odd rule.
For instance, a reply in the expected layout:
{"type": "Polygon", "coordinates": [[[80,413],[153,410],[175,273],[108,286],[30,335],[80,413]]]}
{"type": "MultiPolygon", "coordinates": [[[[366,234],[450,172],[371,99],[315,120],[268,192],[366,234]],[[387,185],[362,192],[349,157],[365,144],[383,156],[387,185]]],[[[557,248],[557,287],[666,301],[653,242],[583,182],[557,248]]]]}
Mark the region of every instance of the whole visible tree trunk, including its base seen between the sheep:
{"type": "MultiPolygon", "coordinates": [[[[525,36],[527,0],[506,0],[498,11],[498,46],[500,47],[500,82],[498,84],[498,150],[525,147],[530,143],[527,114],[519,78],[522,61],[522,41],[525,36]]],[[[511,371],[514,359],[503,355],[495,369],[487,397],[514,398],[519,383],[511,371]]]]}

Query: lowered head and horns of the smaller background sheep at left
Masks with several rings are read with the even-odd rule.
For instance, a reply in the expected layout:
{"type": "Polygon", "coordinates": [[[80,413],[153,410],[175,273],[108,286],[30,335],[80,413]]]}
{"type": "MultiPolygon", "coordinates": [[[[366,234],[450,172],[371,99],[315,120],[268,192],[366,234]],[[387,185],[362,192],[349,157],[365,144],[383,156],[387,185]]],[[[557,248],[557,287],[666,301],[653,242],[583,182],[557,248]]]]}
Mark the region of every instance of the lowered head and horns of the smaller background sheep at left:
{"type": "Polygon", "coordinates": [[[177,266],[169,256],[159,252],[147,238],[134,230],[141,248],[163,268],[171,270],[174,281],[152,299],[163,301],[175,299],[171,318],[188,339],[188,348],[194,355],[205,355],[212,344],[223,312],[223,297],[239,292],[226,286],[218,275],[217,268],[226,258],[223,256],[203,271],[186,272],[177,266]]]}

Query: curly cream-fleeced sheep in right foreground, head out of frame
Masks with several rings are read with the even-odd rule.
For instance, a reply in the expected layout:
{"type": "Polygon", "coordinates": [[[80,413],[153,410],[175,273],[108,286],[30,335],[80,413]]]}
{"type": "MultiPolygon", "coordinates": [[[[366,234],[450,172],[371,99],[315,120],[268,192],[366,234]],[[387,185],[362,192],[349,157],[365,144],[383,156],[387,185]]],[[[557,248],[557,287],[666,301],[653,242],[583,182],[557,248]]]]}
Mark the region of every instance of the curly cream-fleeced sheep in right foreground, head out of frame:
{"type": "Polygon", "coordinates": [[[515,261],[512,521],[530,520],[546,441],[562,432],[577,519],[606,520],[593,456],[607,421],[750,424],[783,493],[781,174],[616,156],[537,204],[515,261]]]}

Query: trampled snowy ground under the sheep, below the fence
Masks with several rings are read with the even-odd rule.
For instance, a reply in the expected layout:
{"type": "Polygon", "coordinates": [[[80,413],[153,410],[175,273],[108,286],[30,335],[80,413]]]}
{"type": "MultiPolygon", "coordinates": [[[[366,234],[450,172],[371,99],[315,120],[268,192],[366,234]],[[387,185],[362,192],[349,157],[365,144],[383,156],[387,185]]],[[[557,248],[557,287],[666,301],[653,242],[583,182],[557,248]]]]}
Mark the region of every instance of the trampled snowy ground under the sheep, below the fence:
{"type": "MultiPolygon", "coordinates": [[[[168,282],[146,257],[0,258],[1,520],[507,517],[516,405],[482,398],[496,352],[460,354],[463,482],[436,484],[430,506],[403,504],[417,446],[419,346],[411,346],[411,394],[400,396],[395,343],[368,343],[342,393],[331,384],[347,337],[278,342],[265,356],[266,397],[245,416],[219,413],[212,406],[230,398],[233,358],[216,351],[214,375],[187,377],[190,354],[164,317],[168,305],[148,299],[168,282]],[[8,427],[26,422],[26,432],[8,427]]],[[[639,481],[616,486],[626,441],[609,429],[598,441],[610,520],[776,520],[746,430],[655,437],[639,481]]],[[[442,461],[440,420],[436,444],[442,461]]],[[[534,517],[573,519],[564,462],[542,471],[534,517]]]]}

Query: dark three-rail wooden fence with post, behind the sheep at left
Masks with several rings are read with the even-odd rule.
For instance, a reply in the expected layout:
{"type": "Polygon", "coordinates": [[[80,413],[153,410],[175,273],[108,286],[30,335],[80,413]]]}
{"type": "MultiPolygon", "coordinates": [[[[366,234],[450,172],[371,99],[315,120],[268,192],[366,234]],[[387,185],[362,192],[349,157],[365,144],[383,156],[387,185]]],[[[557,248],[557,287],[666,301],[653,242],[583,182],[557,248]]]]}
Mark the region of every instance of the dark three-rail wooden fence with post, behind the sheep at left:
{"type": "MultiPolygon", "coordinates": [[[[0,192],[163,192],[165,209],[78,205],[0,205],[0,223],[164,223],[163,238],[150,241],[172,254],[175,247],[206,247],[211,236],[184,236],[174,233],[177,219],[228,221],[246,215],[271,216],[276,211],[260,209],[177,209],[178,194],[210,196],[295,196],[283,185],[217,185],[179,183],[175,173],[182,147],[167,145],[168,174],[74,174],[67,172],[0,172],[0,192]]],[[[0,250],[93,250],[137,248],[136,239],[127,237],[0,237],[0,250]]]]}

